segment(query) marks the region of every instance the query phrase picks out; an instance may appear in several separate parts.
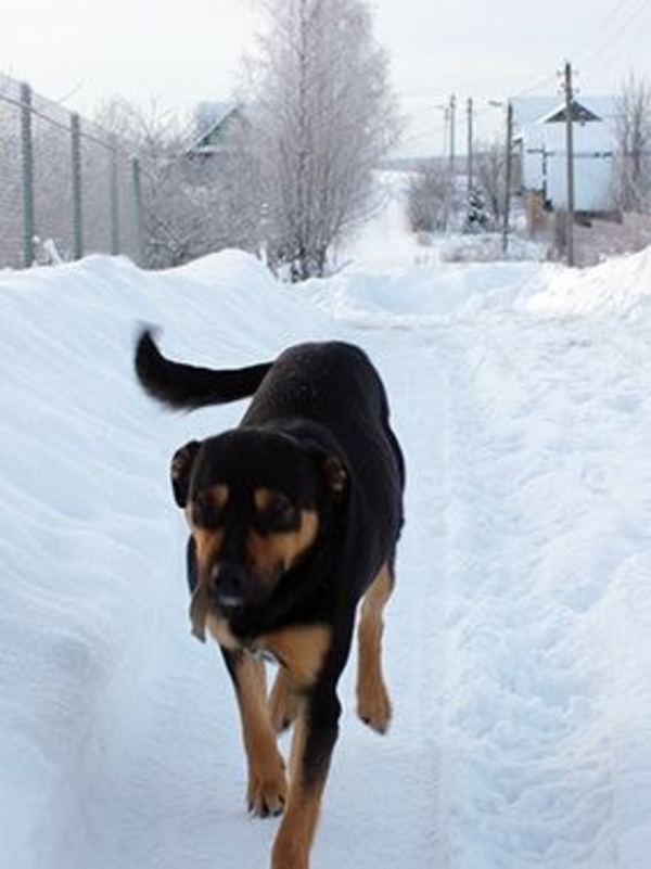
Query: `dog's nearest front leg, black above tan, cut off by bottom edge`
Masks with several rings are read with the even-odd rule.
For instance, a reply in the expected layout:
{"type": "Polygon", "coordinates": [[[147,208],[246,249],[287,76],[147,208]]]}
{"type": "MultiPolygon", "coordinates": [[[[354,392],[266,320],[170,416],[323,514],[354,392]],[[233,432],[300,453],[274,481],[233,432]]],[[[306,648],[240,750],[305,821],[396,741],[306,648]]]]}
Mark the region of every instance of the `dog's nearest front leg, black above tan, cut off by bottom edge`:
{"type": "Polygon", "coordinates": [[[334,686],[318,685],[302,699],[292,740],[288,804],[273,843],[271,869],[308,869],[340,714],[334,686]]]}

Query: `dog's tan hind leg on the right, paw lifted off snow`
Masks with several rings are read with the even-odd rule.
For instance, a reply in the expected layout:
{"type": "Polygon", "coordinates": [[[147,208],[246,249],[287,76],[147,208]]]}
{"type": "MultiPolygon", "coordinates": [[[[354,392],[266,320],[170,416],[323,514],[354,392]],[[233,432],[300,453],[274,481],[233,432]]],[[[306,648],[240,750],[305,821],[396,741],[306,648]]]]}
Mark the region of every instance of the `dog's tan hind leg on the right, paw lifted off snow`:
{"type": "Polygon", "coordinates": [[[383,612],[393,587],[393,570],[387,563],[363,597],[357,630],[357,714],[379,733],[385,733],[391,721],[391,701],[382,675],[382,632],[383,612]]]}

